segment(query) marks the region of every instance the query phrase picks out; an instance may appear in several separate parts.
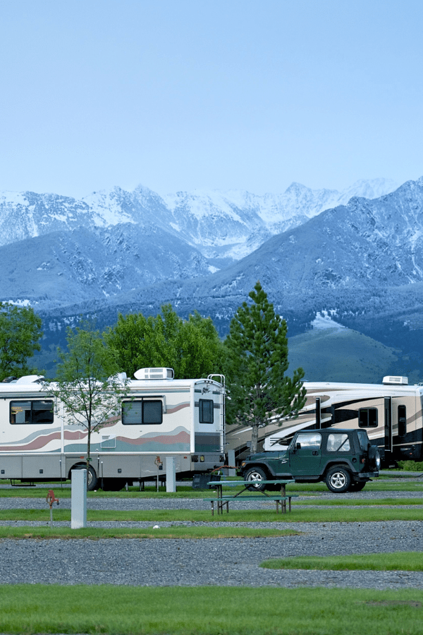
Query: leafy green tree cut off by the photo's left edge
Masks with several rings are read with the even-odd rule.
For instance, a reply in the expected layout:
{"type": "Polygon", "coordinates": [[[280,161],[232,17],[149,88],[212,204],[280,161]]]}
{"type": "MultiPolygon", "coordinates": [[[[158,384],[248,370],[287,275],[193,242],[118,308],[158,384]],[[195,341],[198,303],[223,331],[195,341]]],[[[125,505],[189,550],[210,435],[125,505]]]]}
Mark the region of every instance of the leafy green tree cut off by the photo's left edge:
{"type": "Polygon", "coordinates": [[[0,381],[37,373],[27,359],[41,349],[41,324],[33,308],[0,303],[0,381]]]}

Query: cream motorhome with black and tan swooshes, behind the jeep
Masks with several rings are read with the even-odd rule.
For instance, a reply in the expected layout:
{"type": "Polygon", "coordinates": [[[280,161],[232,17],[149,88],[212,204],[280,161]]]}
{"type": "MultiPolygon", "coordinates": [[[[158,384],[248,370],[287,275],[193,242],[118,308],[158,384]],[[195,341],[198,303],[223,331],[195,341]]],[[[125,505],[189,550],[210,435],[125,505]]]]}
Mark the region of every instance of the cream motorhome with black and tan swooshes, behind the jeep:
{"type": "MultiPolygon", "coordinates": [[[[304,382],[307,401],[298,418],[272,418],[259,429],[259,449],[278,450],[304,428],[364,428],[384,464],[423,460],[423,385],[387,376],[381,384],[304,382]]],[[[235,454],[248,453],[251,428],[231,426],[227,442],[235,454]]]]}

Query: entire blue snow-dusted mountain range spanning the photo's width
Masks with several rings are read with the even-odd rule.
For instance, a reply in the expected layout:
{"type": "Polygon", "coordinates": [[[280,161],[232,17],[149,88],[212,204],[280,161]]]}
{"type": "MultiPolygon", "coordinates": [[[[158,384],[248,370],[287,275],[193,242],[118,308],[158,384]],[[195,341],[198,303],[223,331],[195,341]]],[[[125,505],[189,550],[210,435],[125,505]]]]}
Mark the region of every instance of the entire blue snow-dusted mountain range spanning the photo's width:
{"type": "Polygon", "coordinates": [[[283,195],[264,196],[232,191],[161,198],[142,187],[82,201],[2,195],[0,301],[72,312],[94,301],[137,298],[142,306],[160,306],[198,300],[213,315],[216,298],[239,304],[257,279],[269,295],[417,282],[423,272],[421,181],[324,212],[350,193],[373,194],[392,183],[362,181],[348,194],[293,183],[283,195]]]}

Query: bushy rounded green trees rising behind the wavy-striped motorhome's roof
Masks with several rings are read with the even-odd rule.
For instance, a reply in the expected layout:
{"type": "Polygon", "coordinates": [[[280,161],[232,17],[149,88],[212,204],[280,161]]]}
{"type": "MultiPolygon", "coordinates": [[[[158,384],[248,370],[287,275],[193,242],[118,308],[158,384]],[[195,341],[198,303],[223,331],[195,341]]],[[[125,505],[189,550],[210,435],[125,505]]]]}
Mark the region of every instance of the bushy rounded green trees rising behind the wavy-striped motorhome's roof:
{"type": "Polygon", "coordinates": [[[173,368],[175,377],[189,379],[219,373],[223,344],[209,317],[195,311],[182,320],[171,304],[155,317],[119,315],[106,336],[128,376],[138,368],[173,368]]]}

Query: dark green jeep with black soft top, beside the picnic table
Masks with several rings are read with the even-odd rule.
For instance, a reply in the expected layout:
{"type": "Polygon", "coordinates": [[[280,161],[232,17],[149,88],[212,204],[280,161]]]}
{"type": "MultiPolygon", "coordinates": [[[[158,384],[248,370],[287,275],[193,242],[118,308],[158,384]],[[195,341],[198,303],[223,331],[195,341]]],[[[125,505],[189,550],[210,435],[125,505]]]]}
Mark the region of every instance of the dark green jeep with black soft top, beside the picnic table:
{"type": "MultiPolygon", "coordinates": [[[[288,447],[247,456],[241,464],[245,481],[294,478],[298,483],[324,480],[331,492],[359,492],[379,476],[379,449],[366,430],[300,430],[288,447]]],[[[272,485],[252,485],[271,489],[272,485]]]]}

